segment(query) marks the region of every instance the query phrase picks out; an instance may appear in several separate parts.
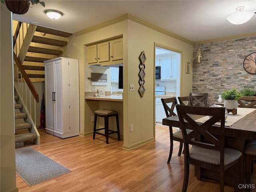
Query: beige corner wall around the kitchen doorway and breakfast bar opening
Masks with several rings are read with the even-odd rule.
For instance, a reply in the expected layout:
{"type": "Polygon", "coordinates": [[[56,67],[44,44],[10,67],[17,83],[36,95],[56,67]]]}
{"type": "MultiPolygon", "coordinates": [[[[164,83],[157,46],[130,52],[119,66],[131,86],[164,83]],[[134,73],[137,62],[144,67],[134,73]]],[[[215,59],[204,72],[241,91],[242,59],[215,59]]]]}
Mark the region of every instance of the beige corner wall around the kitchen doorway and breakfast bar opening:
{"type": "MultiPolygon", "coordinates": [[[[181,95],[192,91],[192,73],[185,74],[185,62],[192,63],[193,49],[192,45],[172,38],[169,35],[158,32],[152,28],[136,22],[133,19],[126,19],[120,22],[114,22],[111,25],[98,28],[92,31],[85,31],[84,34],[74,36],[70,46],[66,51],[66,57],[77,58],[80,62],[80,112],[84,110],[84,128],[81,126],[80,132],[83,135],[92,133],[91,116],[95,109],[100,107],[99,103],[88,104],[84,101],[82,92],[90,91],[91,72],[97,69],[91,69],[86,65],[86,47],[84,45],[123,35],[124,45],[124,97],[123,97],[123,132],[125,150],[136,148],[147,142],[154,140],[154,44],[162,44],[178,50],[181,53],[181,95]],[[140,53],[144,50],[146,54],[146,76],[143,98],[138,93],[138,73],[140,53]],[[81,81],[83,80],[83,81],[81,81]],[[128,91],[129,84],[134,84],[135,91],[128,91]],[[89,106],[90,105],[90,106],[89,106]],[[84,108],[84,109],[82,109],[84,108]],[[134,126],[134,131],[129,131],[129,126],[134,126]]],[[[83,93],[84,94],[84,93],[83,93]]],[[[81,117],[81,116],[80,116],[81,117]]]]}

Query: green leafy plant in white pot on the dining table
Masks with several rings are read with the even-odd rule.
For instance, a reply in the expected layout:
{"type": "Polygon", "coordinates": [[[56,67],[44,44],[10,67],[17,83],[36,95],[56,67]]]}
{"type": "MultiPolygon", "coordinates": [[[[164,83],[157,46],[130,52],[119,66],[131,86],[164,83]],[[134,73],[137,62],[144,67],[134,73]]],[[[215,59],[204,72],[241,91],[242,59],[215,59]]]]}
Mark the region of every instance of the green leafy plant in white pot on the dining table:
{"type": "Polygon", "coordinates": [[[237,109],[238,108],[238,99],[241,97],[241,93],[237,92],[236,88],[229,91],[224,91],[221,94],[221,98],[224,99],[224,107],[226,109],[237,109]]]}

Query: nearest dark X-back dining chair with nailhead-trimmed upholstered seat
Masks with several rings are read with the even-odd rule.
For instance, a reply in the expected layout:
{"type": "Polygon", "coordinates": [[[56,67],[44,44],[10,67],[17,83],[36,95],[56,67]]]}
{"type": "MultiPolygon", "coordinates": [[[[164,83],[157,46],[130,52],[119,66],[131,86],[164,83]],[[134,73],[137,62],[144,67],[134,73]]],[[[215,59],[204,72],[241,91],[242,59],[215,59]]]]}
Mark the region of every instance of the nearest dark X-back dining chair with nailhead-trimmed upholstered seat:
{"type": "MultiPolygon", "coordinates": [[[[238,150],[224,148],[225,141],[225,108],[209,108],[199,106],[176,105],[180,128],[184,142],[184,181],[182,192],[186,192],[188,188],[189,165],[193,164],[208,170],[214,170],[220,174],[220,192],[224,192],[224,171],[234,166],[234,188],[238,192],[238,184],[240,177],[239,162],[242,153],[238,150]],[[193,119],[194,115],[208,116],[209,120],[202,124],[198,124],[193,119]],[[186,122],[185,122],[186,120],[186,122]],[[220,121],[220,136],[216,138],[210,134],[212,126],[220,121]],[[188,133],[187,128],[194,130],[188,133]],[[201,140],[192,140],[198,138],[201,140]],[[189,148],[189,144],[192,145],[189,148]],[[225,157],[225,158],[224,158],[225,157]]],[[[201,180],[201,175],[198,176],[201,180]]]]}

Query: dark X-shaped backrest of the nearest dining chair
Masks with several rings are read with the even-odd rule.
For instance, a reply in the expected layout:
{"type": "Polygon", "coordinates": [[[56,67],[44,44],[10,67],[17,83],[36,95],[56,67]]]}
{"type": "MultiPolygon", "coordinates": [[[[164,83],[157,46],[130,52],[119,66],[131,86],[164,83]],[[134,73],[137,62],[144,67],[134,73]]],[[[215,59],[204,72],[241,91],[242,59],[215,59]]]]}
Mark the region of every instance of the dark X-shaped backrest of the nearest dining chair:
{"type": "MultiPolygon", "coordinates": [[[[176,105],[178,116],[180,119],[180,128],[182,129],[183,142],[188,148],[188,144],[220,150],[224,155],[224,126],[225,126],[225,108],[209,108],[198,106],[176,105]],[[209,120],[204,123],[197,123],[194,119],[196,115],[209,116],[209,120]],[[210,132],[212,126],[220,121],[220,139],[216,138],[210,132]],[[186,129],[193,127],[194,130],[187,134],[186,129]],[[193,138],[200,136],[203,141],[196,141],[193,138]]],[[[189,155],[189,154],[188,154],[189,155]]]]}

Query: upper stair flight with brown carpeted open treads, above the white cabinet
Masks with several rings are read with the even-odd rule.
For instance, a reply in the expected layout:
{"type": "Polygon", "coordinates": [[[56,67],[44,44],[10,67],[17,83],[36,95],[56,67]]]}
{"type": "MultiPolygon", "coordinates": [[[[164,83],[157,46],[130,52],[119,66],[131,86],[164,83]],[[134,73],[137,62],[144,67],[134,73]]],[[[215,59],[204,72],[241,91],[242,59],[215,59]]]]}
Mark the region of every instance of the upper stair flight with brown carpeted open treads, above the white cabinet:
{"type": "MultiPolygon", "coordinates": [[[[62,56],[71,35],[71,33],[42,26],[36,27],[32,43],[28,47],[22,64],[22,68],[26,71],[28,77],[34,78],[31,81],[44,81],[44,61],[62,56]]],[[[21,78],[21,74],[18,77],[21,78]]]]}

